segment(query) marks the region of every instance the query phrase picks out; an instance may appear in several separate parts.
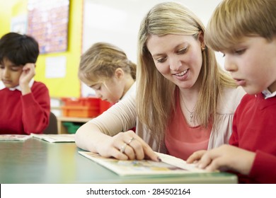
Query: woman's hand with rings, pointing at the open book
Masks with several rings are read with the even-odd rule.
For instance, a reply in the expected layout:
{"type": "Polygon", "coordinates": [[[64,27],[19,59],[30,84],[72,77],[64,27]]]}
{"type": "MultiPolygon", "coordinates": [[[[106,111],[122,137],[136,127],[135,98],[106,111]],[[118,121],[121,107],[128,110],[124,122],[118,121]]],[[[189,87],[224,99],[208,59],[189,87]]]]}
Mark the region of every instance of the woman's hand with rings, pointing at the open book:
{"type": "Polygon", "coordinates": [[[160,161],[150,146],[133,131],[120,132],[115,136],[106,137],[101,143],[98,142],[96,150],[101,156],[120,160],[149,158],[153,161],[160,161]]]}

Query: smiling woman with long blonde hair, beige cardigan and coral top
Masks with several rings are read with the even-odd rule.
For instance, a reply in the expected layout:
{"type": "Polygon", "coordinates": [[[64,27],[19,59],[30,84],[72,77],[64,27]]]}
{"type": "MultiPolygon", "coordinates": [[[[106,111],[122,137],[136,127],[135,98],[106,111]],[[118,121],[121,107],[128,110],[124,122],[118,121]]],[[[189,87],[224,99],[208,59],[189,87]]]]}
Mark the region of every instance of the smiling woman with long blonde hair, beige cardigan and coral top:
{"type": "Polygon", "coordinates": [[[84,124],[76,144],[106,157],[158,161],[153,151],[186,160],[227,143],[244,91],[219,67],[204,33],[181,4],[151,8],[139,30],[136,98],[84,124]],[[136,134],[125,132],[135,124],[136,134]]]}

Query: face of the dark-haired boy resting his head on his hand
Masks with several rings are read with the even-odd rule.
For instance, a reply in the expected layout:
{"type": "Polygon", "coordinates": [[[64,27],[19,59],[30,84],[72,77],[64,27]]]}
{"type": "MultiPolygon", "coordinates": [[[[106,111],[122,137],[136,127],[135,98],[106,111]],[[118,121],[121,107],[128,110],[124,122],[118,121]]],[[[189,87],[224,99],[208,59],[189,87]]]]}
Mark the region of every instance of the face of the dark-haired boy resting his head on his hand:
{"type": "Polygon", "coordinates": [[[23,66],[15,65],[6,58],[0,63],[0,77],[6,88],[18,86],[22,71],[23,66]]]}

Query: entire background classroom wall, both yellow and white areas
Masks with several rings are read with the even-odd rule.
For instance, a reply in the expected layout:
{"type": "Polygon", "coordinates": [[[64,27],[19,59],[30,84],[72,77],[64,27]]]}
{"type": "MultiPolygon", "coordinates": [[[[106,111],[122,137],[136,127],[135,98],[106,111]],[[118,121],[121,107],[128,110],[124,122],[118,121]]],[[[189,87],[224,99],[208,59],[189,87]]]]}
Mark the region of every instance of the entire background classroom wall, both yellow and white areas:
{"type": "MultiPolygon", "coordinates": [[[[68,50],[40,54],[35,80],[45,83],[53,98],[93,95],[91,88],[81,85],[77,77],[81,54],[95,42],[111,42],[136,62],[139,23],[149,8],[162,1],[166,0],[70,0],[68,50]],[[66,57],[64,78],[46,78],[46,59],[49,57],[66,57]]],[[[194,11],[205,25],[220,1],[178,0],[194,11]]],[[[12,17],[27,13],[27,4],[28,0],[0,0],[0,36],[10,31],[12,17]]],[[[222,54],[217,54],[217,59],[224,64],[222,54]]]]}

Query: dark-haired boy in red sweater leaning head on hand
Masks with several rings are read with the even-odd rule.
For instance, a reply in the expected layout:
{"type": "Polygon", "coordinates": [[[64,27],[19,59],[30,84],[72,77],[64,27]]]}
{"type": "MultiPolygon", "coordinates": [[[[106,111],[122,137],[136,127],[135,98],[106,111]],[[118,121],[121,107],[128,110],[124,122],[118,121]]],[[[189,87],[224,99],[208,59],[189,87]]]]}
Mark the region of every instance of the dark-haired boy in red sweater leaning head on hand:
{"type": "Polygon", "coordinates": [[[0,39],[0,134],[40,134],[50,117],[50,95],[34,81],[38,42],[8,33],[0,39]]]}

